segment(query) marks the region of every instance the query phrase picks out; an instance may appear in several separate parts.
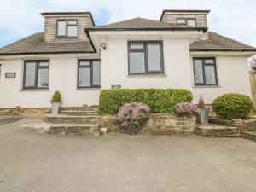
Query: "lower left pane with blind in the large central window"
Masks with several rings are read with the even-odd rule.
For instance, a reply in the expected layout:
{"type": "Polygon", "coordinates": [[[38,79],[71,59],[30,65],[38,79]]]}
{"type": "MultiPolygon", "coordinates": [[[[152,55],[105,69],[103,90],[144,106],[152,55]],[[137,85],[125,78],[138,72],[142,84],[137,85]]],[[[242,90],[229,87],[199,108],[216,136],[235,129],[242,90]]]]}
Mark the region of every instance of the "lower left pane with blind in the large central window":
{"type": "Polygon", "coordinates": [[[144,52],[130,52],[130,73],[144,73],[144,52]]]}

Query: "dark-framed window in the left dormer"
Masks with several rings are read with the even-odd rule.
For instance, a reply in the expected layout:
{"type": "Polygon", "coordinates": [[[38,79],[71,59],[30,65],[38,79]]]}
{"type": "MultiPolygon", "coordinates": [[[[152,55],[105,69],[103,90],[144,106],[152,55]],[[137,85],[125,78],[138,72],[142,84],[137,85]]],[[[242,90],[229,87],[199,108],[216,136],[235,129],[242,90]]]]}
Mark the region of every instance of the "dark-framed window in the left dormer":
{"type": "Polygon", "coordinates": [[[58,38],[77,38],[78,20],[57,20],[58,38]]]}

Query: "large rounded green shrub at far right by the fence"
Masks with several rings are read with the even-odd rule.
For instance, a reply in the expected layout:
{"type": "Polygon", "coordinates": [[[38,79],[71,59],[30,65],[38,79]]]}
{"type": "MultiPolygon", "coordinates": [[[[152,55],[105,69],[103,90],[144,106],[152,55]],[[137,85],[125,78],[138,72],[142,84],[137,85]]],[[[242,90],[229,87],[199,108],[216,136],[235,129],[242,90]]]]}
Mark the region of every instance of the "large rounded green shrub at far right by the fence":
{"type": "Polygon", "coordinates": [[[249,96],[230,93],[218,96],[213,101],[212,108],[220,118],[244,119],[253,110],[253,102],[249,96]]]}

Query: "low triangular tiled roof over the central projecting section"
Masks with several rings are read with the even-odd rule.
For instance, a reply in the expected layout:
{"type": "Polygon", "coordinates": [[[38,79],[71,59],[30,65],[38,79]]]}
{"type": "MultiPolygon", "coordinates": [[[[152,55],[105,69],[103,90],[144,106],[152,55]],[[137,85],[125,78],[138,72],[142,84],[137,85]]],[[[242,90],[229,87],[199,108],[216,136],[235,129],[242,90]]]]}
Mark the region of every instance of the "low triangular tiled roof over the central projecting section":
{"type": "MultiPolygon", "coordinates": [[[[110,23],[102,26],[95,26],[92,28],[172,28],[172,27],[189,27],[184,25],[171,24],[167,22],[161,22],[158,20],[148,20],[141,17],[136,17],[131,20],[123,20],[115,23],[110,23]]],[[[191,27],[189,27],[191,28],[191,27]]]]}

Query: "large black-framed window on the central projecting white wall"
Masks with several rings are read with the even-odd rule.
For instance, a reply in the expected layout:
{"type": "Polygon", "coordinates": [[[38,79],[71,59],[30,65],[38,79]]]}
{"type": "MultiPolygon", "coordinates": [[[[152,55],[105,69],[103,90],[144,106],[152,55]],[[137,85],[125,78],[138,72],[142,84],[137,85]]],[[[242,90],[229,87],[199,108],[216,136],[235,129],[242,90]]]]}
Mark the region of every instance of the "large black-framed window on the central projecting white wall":
{"type": "Polygon", "coordinates": [[[128,42],[128,60],[130,74],[164,73],[162,42],[128,42]]]}

